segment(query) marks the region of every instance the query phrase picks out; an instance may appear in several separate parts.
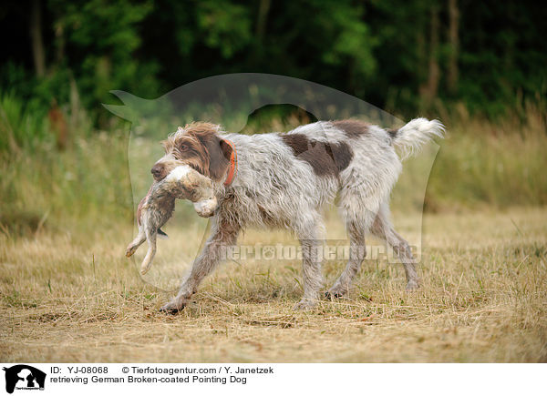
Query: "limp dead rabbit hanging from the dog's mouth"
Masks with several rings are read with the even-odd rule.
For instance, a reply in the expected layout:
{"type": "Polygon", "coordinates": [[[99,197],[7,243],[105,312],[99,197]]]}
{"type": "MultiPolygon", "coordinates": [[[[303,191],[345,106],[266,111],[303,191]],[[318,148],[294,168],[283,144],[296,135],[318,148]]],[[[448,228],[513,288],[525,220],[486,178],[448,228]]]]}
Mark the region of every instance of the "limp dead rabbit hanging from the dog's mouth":
{"type": "Polygon", "coordinates": [[[139,234],[126,249],[126,257],[129,258],[145,240],[148,241],[149,249],[140,266],[142,275],[149,271],[156,255],[157,235],[167,237],[160,227],[172,216],[175,198],[190,199],[194,202],[198,215],[203,218],[211,217],[217,205],[211,179],[205,178],[188,165],[174,168],[167,178],[154,181],[137,209],[139,234]]]}

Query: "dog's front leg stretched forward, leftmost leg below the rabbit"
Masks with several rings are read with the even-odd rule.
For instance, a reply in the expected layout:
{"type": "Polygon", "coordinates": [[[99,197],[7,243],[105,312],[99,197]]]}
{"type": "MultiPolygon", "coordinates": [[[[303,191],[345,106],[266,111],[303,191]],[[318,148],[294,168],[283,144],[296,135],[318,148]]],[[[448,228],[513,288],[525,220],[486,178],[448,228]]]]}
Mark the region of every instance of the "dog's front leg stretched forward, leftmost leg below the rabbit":
{"type": "Polygon", "coordinates": [[[207,275],[223,259],[222,249],[235,245],[239,227],[222,222],[212,226],[211,237],[205,243],[200,255],[194,260],[190,274],[182,282],[181,289],[175,298],[161,307],[161,311],[177,313],[191,300],[191,296],[197,291],[198,286],[207,275]]]}

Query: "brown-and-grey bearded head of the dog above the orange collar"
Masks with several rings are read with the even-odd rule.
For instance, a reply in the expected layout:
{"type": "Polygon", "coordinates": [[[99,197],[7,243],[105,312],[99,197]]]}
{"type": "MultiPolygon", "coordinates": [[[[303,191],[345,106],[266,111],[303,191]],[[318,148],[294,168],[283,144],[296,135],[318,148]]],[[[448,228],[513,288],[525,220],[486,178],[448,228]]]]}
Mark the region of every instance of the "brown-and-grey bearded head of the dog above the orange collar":
{"type": "Polygon", "coordinates": [[[230,167],[232,147],[218,135],[221,127],[206,122],[193,122],[179,127],[161,144],[165,155],[151,168],[160,181],[181,165],[194,168],[213,181],[221,181],[230,167]]]}

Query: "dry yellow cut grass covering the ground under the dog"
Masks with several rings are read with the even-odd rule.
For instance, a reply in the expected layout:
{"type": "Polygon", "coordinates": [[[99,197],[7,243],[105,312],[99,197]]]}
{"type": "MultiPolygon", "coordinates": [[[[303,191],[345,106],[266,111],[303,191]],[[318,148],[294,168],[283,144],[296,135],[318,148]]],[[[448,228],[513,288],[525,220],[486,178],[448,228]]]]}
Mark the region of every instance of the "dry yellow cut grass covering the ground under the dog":
{"type": "MultiPolygon", "coordinates": [[[[369,260],[348,299],[310,312],[292,310],[299,263],[252,261],[226,263],[191,307],[160,314],[169,296],[123,257],[131,232],[1,236],[0,360],[547,360],[545,208],[428,215],[418,292],[400,266],[369,260]]],[[[342,265],[325,264],[327,282],[342,265]]]]}

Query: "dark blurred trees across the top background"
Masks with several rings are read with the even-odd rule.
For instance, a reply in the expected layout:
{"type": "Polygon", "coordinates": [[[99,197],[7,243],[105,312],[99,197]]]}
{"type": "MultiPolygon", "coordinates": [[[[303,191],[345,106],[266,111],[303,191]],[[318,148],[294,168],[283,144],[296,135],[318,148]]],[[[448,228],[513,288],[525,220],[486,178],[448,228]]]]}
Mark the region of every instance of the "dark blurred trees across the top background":
{"type": "Polygon", "coordinates": [[[100,121],[111,89],[151,97],[263,72],[403,115],[463,103],[497,116],[544,100],[546,19],[530,0],[7,0],[0,89],[36,107],[81,103],[100,121]]]}

